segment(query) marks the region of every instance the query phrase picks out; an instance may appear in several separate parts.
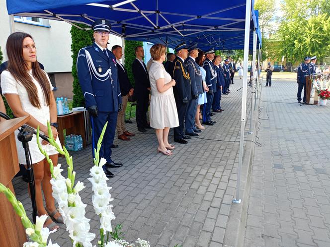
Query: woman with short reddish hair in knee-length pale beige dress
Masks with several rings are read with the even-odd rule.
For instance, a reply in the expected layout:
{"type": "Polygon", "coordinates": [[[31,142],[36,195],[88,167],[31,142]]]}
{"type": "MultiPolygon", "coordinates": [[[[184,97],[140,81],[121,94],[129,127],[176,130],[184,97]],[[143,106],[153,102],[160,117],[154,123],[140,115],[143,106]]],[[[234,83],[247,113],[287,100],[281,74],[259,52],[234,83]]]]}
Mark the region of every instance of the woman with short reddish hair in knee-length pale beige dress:
{"type": "Polygon", "coordinates": [[[179,119],[173,94],[175,80],[166,72],[163,62],[165,61],[165,46],[153,45],[150,48],[153,63],[149,69],[151,85],[150,99],[150,126],[156,128],[158,140],[158,153],[172,155],[174,146],[168,143],[169,128],[177,127],[179,119]]]}

